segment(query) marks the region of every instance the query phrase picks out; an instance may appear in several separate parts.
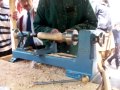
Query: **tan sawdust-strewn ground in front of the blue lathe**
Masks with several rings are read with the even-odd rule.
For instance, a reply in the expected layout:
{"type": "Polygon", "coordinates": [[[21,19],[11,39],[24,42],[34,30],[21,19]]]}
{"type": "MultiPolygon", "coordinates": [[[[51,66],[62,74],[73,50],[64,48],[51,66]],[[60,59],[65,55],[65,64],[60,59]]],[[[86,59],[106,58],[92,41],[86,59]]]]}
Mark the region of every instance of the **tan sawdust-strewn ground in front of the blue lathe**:
{"type": "MultiPolygon", "coordinates": [[[[69,80],[62,68],[35,64],[22,60],[15,63],[9,58],[0,60],[0,86],[10,90],[96,90],[97,84],[83,84],[81,81],[34,85],[34,82],[48,82],[52,80],[69,80]]],[[[1,90],[1,89],[0,89],[1,90]]]]}

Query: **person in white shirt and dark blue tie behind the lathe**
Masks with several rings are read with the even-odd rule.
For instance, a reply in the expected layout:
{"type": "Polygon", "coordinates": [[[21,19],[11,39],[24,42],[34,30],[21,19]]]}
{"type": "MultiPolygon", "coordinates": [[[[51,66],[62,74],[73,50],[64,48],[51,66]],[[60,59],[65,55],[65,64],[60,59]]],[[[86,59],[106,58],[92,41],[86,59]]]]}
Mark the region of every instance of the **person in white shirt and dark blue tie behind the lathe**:
{"type": "MultiPolygon", "coordinates": [[[[33,0],[18,0],[20,5],[23,8],[23,11],[21,12],[21,16],[18,19],[18,28],[21,31],[29,31],[32,33],[34,32],[33,28],[33,21],[35,16],[35,11],[33,8],[33,0]]],[[[42,42],[36,38],[36,37],[30,37],[27,42],[26,46],[32,46],[33,48],[36,48],[37,46],[41,45],[42,42]]]]}

